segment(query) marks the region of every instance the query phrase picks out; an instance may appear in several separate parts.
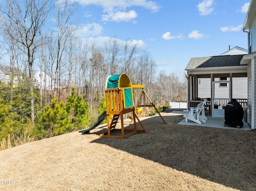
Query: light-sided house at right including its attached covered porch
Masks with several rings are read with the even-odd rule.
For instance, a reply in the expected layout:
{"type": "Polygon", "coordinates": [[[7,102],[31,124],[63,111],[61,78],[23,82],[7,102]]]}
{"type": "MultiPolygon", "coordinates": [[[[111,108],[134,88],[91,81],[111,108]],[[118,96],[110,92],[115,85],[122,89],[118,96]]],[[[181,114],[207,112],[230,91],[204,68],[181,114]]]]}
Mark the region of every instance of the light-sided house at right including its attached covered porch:
{"type": "MultiPolygon", "coordinates": [[[[239,99],[242,104],[248,124],[252,129],[256,127],[256,0],[251,0],[243,31],[248,34],[248,53],[244,54],[236,47],[222,55],[215,57],[202,57],[190,59],[186,73],[188,76],[188,107],[198,104],[202,98],[198,96],[198,82],[200,78],[210,78],[210,98],[206,104],[212,117],[223,117],[222,104],[225,105],[230,98],[236,98],[235,89],[244,89],[247,86],[247,99],[239,99]],[[235,53],[240,51],[240,53],[235,53]],[[234,54],[233,54],[234,53],[234,54]],[[241,54],[242,53],[242,54],[241,54]],[[235,78],[245,78],[241,87],[235,87],[235,78]],[[218,87],[225,86],[225,95],[216,95],[218,87]],[[226,90],[228,89],[228,91],[226,90]],[[228,95],[228,98],[227,98],[228,95]],[[226,97],[225,97],[226,96],[226,97]],[[193,105],[194,104],[194,105],[193,105]],[[222,110],[222,111],[221,111],[222,110]]],[[[240,81],[240,80],[239,80],[240,81]]],[[[208,90],[209,91],[209,90],[208,90]]],[[[243,90],[241,90],[243,91],[243,90]]]]}

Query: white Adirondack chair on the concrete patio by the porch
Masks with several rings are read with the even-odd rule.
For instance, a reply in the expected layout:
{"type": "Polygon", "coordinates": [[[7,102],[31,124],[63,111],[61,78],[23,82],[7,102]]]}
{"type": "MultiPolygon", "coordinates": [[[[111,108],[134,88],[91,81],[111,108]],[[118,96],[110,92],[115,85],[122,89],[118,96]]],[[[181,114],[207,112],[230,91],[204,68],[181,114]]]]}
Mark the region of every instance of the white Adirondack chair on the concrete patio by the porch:
{"type": "Polygon", "coordinates": [[[185,115],[183,117],[186,118],[186,122],[188,122],[189,119],[198,124],[201,124],[201,122],[206,123],[207,118],[204,114],[204,104],[205,101],[198,104],[196,108],[190,108],[190,110],[183,110],[185,112],[185,115]]]}

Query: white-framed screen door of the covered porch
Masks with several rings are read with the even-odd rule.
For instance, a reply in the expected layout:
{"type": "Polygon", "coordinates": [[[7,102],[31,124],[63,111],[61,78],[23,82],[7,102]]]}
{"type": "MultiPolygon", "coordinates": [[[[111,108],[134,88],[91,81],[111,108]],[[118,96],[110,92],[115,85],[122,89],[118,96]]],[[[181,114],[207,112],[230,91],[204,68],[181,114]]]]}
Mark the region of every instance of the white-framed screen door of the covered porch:
{"type": "Polygon", "coordinates": [[[224,118],[224,106],[231,101],[230,81],[212,82],[212,117],[224,118]],[[225,84],[226,87],[221,86],[225,84]]]}

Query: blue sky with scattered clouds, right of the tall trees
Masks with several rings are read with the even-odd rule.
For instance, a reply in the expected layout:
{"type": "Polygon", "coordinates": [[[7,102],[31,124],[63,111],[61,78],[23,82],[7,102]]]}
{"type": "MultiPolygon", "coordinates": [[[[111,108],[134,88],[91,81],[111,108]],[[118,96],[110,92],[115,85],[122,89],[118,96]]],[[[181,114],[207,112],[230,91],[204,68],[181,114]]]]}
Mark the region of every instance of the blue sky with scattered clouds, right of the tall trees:
{"type": "Polygon", "coordinates": [[[79,0],[77,31],[99,46],[111,37],[149,51],[158,71],[184,71],[192,57],[247,49],[250,0],[79,0]]]}

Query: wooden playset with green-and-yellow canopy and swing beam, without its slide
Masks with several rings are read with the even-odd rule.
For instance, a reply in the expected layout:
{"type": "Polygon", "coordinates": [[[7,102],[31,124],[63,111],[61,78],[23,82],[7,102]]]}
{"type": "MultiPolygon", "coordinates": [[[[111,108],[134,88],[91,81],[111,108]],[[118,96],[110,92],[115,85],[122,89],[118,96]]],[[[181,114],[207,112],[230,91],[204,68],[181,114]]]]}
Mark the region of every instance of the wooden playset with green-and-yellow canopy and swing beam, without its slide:
{"type": "MultiPolygon", "coordinates": [[[[112,75],[106,79],[105,96],[108,131],[100,135],[102,138],[127,138],[137,132],[147,133],[143,124],[136,115],[142,112],[142,107],[154,107],[156,112],[162,118],[160,112],[146,94],[144,85],[132,85],[130,78],[126,74],[112,75]],[[136,108],[134,107],[134,88],[140,88],[142,90],[136,108]],[[132,129],[124,128],[123,115],[130,112],[132,112],[132,120],[134,121],[134,128],[132,129]],[[111,122],[110,115],[113,115],[111,122]],[[116,124],[119,118],[121,122],[121,129],[116,129],[116,124]],[[142,127],[142,130],[137,129],[136,119],[142,127]],[[121,132],[121,135],[115,135],[115,131],[121,132]],[[128,134],[126,132],[128,132],[128,134]]],[[[162,120],[166,124],[164,118],[162,118],[162,120]]]]}

